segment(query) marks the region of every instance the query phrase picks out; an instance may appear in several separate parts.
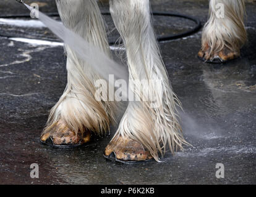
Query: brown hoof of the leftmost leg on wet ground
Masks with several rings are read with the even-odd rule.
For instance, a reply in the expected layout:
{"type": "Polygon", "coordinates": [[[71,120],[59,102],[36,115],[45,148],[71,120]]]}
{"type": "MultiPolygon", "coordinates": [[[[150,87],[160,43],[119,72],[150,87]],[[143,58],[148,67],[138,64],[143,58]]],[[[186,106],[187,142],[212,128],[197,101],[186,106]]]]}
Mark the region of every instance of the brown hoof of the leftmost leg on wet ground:
{"type": "Polygon", "coordinates": [[[75,135],[75,132],[71,131],[64,121],[58,121],[48,130],[41,135],[40,141],[55,148],[81,147],[90,142],[92,138],[90,131],[84,131],[83,134],[79,132],[75,135]]]}

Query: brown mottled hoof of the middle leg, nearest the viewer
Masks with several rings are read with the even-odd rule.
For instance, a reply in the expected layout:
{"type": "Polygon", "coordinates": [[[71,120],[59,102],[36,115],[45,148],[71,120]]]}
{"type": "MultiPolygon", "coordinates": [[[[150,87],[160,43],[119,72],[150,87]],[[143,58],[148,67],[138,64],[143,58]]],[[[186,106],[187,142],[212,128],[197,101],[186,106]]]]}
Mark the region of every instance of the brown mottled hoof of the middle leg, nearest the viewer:
{"type": "Polygon", "coordinates": [[[150,161],[153,157],[143,145],[135,140],[116,136],[105,148],[104,157],[121,163],[150,161]]]}

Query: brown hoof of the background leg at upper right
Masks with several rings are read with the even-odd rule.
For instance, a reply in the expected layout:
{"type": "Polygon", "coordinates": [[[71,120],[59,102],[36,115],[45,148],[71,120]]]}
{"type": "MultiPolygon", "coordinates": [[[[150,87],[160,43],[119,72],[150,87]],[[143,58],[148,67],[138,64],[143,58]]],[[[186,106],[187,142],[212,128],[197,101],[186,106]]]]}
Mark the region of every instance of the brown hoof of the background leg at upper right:
{"type": "Polygon", "coordinates": [[[239,57],[239,52],[224,48],[220,52],[211,52],[211,48],[206,46],[198,52],[198,58],[207,63],[225,63],[239,57]]]}

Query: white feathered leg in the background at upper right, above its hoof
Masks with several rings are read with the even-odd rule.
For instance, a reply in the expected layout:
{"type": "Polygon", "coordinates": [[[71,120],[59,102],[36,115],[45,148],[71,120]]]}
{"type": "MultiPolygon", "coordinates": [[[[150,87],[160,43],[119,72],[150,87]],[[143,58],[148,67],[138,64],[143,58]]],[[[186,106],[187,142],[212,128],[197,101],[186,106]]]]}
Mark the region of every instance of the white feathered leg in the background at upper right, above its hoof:
{"type": "Polygon", "coordinates": [[[202,49],[210,47],[210,55],[226,47],[240,55],[247,41],[244,26],[244,0],[210,0],[209,18],[202,33],[202,49]]]}

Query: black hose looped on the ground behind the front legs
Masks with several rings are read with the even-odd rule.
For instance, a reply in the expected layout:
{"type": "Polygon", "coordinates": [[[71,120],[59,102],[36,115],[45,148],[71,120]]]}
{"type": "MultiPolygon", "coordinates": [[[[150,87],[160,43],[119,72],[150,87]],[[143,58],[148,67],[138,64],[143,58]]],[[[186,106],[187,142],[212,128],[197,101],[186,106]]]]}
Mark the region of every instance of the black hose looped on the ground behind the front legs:
{"type": "MultiPolygon", "coordinates": [[[[102,12],[102,15],[111,15],[110,12],[102,12]]],[[[54,13],[48,13],[47,14],[49,17],[59,17],[59,14],[54,12],[54,13]]],[[[183,14],[173,14],[171,12],[152,12],[152,15],[158,15],[158,16],[166,16],[166,17],[179,17],[179,18],[186,18],[188,20],[192,20],[193,22],[195,22],[195,27],[192,28],[192,30],[186,31],[184,33],[180,33],[180,34],[168,34],[168,35],[164,35],[164,36],[157,36],[158,41],[170,41],[173,39],[178,39],[178,38],[183,38],[185,36],[189,36],[191,34],[197,33],[198,30],[200,30],[201,28],[201,22],[200,20],[198,20],[197,18],[194,17],[190,17],[188,15],[183,15],[183,14]]],[[[1,16],[0,18],[30,18],[30,15],[28,14],[15,14],[15,15],[4,15],[1,16]]],[[[1,35],[2,37],[6,37],[6,38],[11,38],[12,36],[7,36],[7,35],[1,35]]],[[[115,44],[116,42],[109,42],[110,45],[115,44]]]]}

